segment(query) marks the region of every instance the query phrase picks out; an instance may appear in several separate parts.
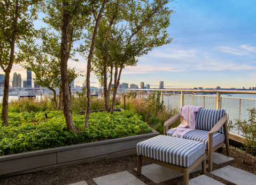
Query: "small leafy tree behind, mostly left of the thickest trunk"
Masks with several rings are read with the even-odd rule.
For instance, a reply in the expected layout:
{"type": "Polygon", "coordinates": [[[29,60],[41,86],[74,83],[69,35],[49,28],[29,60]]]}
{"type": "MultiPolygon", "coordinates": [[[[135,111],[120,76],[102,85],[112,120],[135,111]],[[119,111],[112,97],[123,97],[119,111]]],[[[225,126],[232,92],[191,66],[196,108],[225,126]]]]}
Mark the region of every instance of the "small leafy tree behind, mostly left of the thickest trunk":
{"type": "MultiPolygon", "coordinates": [[[[59,37],[55,33],[42,28],[37,30],[37,39],[42,41],[41,45],[36,44],[36,40],[27,38],[26,43],[21,46],[21,50],[26,56],[26,61],[22,66],[26,69],[30,68],[35,73],[34,80],[38,85],[53,92],[56,110],[60,110],[61,106],[58,106],[56,93],[56,88],[60,88],[59,37]]],[[[74,69],[69,68],[68,83],[70,84],[78,75],[74,69]]]]}

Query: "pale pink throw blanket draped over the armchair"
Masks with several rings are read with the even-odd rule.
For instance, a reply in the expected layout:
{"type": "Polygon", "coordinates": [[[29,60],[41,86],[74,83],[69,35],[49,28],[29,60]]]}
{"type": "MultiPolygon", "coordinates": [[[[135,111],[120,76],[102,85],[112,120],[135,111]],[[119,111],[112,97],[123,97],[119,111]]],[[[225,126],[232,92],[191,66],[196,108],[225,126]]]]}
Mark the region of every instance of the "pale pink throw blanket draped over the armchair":
{"type": "Polygon", "coordinates": [[[170,129],[173,137],[183,138],[183,136],[189,131],[195,130],[196,128],[196,119],[195,113],[203,107],[196,107],[192,105],[187,105],[181,107],[181,124],[173,129],[170,129]]]}

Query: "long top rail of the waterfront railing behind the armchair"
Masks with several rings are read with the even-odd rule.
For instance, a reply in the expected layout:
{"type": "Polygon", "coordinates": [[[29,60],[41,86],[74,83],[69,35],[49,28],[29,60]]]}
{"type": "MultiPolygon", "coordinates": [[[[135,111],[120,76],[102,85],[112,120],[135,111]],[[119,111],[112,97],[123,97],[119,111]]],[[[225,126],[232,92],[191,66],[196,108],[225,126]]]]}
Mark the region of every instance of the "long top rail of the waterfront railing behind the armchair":
{"type": "Polygon", "coordinates": [[[256,90],[197,90],[197,89],[119,89],[119,90],[142,90],[142,91],[175,91],[175,92],[198,92],[198,93],[230,93],[230,94],[256,94],[256,90]]]}

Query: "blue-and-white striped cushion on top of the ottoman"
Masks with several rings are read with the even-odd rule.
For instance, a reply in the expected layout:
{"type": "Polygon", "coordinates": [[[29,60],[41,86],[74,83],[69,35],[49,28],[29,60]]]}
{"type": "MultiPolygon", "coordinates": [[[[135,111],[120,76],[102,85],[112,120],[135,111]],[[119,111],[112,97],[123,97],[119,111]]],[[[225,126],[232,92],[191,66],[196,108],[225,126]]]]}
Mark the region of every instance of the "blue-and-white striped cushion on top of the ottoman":
{"type": "Polygon", "coordinates": [[[205,144],[188,139],[156,136],[137,144],[137,153],[158,161],[189,167],[205,153],[205,144]]]}

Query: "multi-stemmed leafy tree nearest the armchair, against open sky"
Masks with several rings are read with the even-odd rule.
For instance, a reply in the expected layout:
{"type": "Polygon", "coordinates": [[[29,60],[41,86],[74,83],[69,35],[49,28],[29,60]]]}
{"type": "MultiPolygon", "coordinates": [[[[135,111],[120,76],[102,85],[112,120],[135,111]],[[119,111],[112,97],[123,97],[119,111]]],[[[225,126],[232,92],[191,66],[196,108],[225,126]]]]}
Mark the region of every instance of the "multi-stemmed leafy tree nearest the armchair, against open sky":
{"type": "MultiPolygon", "coordinates": [[[[118,11],[115,20],[122,19],[113,21],[115,23],[112,24],[109,34],[107,34],[107,24],[100,24],[103,25],[103,28],[99,30],[103,30],[103,33],[98,35],[94,69],[98,77],[104,80],[106,110],[108,110],[106,104],[108,104],[107,100],[110,96],[108,92],[114,71],[111,113],[113,112],[122,69],[125,66],[136,65],[139,56],[148,54],[154,47],[168,44],[172,40],[166,30],[169,26],[170,14],[173,12],[166,6],[169,2],[169,0],[155,0],[150,4],[149,1],[130,1],[126,6],[123,6],[121,11],[118,11]],[[110,36],[106,37],[106,35],[110,36]],[[108,89],[106,87],[107,68],[110,72],[108,89]]],[[[111,23],[111,21],[108,22],[111,23]]]]}

